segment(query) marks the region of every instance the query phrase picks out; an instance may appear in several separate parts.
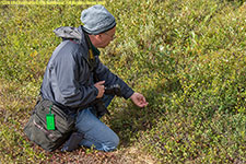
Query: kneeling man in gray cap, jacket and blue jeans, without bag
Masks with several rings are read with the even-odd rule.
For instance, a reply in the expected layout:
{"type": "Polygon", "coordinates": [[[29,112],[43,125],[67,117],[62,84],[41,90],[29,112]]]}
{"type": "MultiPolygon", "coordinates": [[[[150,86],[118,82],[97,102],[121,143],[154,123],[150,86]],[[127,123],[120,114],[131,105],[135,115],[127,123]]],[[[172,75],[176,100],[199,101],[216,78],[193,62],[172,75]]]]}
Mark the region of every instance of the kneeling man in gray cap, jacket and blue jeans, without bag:
{"type": "Polygon", "coordinates": [[[103,5],[93,5],[82,11],[81,21],[84,25],[79,28],[66,26],[54,31],[62,43],[46,68],[42,96],[70,112],[79,109],[75,128],[83,133],[80,145],[113,151],[119,138],[99,120],[104,113],[95,107],[98,99],[108,106],[114,97],[104,94],[105,86],[118,84],[122,96],[139,107],[148,102],[99,61],[97,48],[105,48],[114,39],[115,17],[103,5]]]}

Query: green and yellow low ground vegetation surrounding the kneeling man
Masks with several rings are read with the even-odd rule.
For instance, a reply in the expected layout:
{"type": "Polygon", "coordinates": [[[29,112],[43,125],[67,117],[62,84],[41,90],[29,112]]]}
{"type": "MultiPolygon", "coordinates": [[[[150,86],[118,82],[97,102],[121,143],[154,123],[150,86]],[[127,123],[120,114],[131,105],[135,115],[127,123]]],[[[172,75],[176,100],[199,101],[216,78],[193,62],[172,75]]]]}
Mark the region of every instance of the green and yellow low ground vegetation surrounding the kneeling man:
{"type": "Polygon", "coordinates": [[[106,2],[117,38],[101,58],[149,106],[114,99],[104,121],[120,145],[110,155],[28,142],[23,127],[60,43],[52,30],[79,26],[86,7],[0,5],[0,162],[245,163],[245,1],[106,2]]]}

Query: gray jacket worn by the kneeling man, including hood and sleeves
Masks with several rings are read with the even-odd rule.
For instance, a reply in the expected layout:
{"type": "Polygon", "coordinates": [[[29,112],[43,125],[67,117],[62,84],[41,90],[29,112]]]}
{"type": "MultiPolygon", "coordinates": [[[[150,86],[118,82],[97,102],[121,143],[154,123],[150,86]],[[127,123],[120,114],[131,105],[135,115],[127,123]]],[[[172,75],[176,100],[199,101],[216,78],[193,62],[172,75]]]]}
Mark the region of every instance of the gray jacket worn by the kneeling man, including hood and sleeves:
{"type": "MultiPolygon", "coordinates": [[[[40,89],[42,96],[68,108],[86,107],[96,99],[98,91],[89,67],[89,47],[82,26],[65,26],[54,32],[63,40],[49,59],[40,89]]],[[[105,86],[119,84],[126,99],[133,94],[131,87],[99,61],[98,56],[95,56],[94,72],[99,81],[105,81],[105,86]]]]}

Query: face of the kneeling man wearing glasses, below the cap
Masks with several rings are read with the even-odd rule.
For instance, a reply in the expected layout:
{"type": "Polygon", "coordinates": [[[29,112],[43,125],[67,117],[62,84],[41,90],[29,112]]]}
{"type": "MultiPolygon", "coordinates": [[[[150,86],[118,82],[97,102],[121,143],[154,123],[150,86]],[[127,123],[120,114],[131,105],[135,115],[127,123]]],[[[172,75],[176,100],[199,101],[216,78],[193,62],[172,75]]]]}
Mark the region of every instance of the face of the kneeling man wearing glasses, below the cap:
{"type": "Polygon", "coordinates": [[[91,39],[92,44],[97,48],[105,48],[107,45],[110,44],[112,40],[114,40],[115,32],[116,32],[116,27],[105,33],[95,35],[94,39],[91,39]]]}

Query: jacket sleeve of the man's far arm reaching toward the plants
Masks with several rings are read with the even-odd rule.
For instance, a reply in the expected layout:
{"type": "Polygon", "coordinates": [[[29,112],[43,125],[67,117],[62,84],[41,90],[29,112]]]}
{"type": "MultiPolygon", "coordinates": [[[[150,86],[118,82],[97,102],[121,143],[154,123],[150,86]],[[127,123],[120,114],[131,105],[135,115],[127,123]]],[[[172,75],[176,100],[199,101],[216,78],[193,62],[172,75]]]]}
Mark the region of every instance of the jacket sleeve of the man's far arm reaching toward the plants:
{"type": "Polygon", "coordinates": [[[127,83],[125,83],[116,74],[112,73],[109,69],[99,61],[98,57],[96,57],[95,60],[96,60],[95,75],[98,78],[99,81],[105,81],[105,86],[119,84],[122,96],[126,99],[129,98],[134,93],[133,90],[130,86],[128,86],[127,83]]]}

